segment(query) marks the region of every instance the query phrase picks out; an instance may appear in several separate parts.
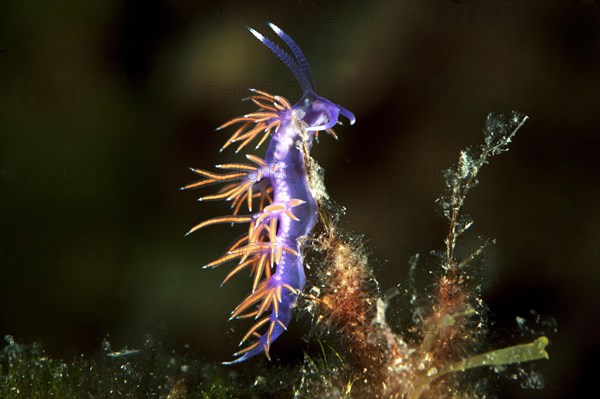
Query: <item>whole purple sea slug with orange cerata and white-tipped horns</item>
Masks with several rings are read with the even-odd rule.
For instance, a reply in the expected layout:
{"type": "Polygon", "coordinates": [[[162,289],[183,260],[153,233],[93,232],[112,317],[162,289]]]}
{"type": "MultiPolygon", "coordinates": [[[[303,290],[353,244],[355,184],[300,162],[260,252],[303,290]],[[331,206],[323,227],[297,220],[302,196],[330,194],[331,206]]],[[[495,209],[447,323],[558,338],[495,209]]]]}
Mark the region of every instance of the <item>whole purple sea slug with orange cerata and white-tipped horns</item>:
{"type": "Polygon", "coordinates": [[[288,100],[259,90],[251,90],[249,100],[258,105],[256,112],[234,118],[217,130],[236,126],[223,149],[238,144],[236,153],[255,138],[260,137],[258,149],[269,137],[265,158],[247,154],[248,163],[217,165],[223,174],[191,169],[201,180],[182,189],[200,188],[214,183],[225,184],[216,194],[201,197],[200,201],[226,200],[231,202],[233,215],[206,220],[193,227],[188,234],[218,223],[248,223],[248,234],[237,240],[219,259],[205,267],[215,267],[237,261],[225,277],[249,269],[252,292],[231,314],[234,318],[253,318],[256,323],[242,338],[246,347],[228,364],[242,362],[264,352],[270,359],[269,348],[287,329],[299,293],[306,278],[300,239],[310,234],[317,222],[318,205],[311,192],[305,156],[319,131],[336,137],[332,130],[340,114],[354,124],[354,115],[341,106],[315,93],[310,67],[300,47],[281,29],[269,26],[291,50],[293,57],[278,45],[248,28],[292,71],[303,95],[292,105],[288,100]],[[241,215],[246,203],[248,215],[241,215]],[[255,205],[258,211],[252,213],[255,205]]]}

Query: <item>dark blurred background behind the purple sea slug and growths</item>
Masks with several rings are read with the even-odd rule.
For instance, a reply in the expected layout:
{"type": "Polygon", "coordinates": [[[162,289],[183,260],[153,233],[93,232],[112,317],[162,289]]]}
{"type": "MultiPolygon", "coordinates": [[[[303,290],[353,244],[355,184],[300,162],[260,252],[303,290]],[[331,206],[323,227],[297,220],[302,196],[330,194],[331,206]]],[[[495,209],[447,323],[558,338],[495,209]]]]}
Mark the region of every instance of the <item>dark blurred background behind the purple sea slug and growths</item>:
{"type": "MultiPolygon", "coordinates": [[[[319,93],[357,116],[314,156],[384,290],[413,253],[442,248],[441,170],[482,142],[488,112],[530,116],[466,205],[474,232],[497,239],[484,268],[492,346],[530,339],[516,316],[551,340],[550,361],[533,366],[542,391],[501,387],[576,397],[596,378],[596,2],[5,1],[0,13],[0,335],[68,356],[158,326],[198,357],[229,359],[246,325],[226,319],[249,282],[219,288],[225,268],[200,266],[237,233],[184,239],[228,208],[177,188],[193,181],[188,166],[234,159],[213,129],[251,110],[248,87],[298,98],[245,29],[275,38],[273,21],[302,46],[319,93]]],[[[275,357],[306,349],[306,319],[275,357]]]]}

